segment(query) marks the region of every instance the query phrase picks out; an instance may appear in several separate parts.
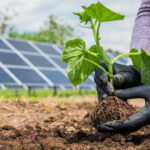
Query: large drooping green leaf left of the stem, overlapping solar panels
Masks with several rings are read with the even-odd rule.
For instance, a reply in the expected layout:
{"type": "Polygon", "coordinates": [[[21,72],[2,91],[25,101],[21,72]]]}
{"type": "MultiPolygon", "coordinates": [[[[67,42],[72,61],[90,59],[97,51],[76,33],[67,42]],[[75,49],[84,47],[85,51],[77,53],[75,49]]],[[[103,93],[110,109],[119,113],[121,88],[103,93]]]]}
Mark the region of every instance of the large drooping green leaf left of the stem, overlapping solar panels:
{"type": "Polygon", "coordinates": [[[71,40],[66,43],[62,61],[67,63],[68,78],[74,87],[84,82],[95,69],[95,65],[85,61],[84,58],[95,63],[103,60],[99,56],[96,46],[86,50],[85,42],[81,39],[71,40]]]}

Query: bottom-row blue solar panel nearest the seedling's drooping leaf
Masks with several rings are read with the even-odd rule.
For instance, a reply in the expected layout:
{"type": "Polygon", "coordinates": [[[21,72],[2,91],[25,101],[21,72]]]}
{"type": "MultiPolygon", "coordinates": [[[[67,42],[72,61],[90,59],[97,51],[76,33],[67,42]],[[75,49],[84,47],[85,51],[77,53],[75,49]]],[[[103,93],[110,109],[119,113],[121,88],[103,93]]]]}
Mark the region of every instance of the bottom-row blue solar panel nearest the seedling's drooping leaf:
{"type": "Polygon", "coordinates": [[[70,84],[68,78],[65,77],[60,71],[47,71],[41,70],[54,84],[70,84]]]}

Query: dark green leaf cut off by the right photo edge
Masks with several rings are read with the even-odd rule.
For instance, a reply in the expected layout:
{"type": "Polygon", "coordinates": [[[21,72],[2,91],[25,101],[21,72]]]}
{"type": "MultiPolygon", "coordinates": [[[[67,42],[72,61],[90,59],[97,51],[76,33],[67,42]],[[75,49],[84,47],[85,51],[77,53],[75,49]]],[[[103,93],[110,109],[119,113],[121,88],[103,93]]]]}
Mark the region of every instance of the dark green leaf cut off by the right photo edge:
{"type": "Polygon", "coordinates": [[[150,83],[150,54],[141,49],[141,75],[142,83],[150,83]]]}

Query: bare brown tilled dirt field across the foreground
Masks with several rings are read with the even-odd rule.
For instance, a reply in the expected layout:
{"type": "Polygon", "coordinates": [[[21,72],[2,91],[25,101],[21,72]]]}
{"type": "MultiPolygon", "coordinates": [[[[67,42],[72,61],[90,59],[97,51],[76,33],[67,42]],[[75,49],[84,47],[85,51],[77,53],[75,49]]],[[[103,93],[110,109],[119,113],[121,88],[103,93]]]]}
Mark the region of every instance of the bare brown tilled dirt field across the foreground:
{"type": "MultiPolygon", "coordinates": [[[[0,150],[150,149],[150,125],[130,135],[97,133],[89,113],[97,98],[5,101],[0,104],[0,150]]],[[[143,100],[130,101],[134,106],[143,100]]]]}

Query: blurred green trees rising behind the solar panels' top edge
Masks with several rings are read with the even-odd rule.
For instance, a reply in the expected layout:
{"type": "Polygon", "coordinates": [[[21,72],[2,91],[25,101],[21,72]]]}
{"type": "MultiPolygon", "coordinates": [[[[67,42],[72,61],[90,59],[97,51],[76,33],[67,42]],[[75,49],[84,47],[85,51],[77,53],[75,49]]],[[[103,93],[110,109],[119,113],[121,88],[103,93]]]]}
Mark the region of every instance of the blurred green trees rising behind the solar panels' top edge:
{"type": "Polygon", "coordinates": [[[45,23],[44,27],[37,32],[24,32],[18,33],[16,30],[12,30],[9,33],[9,37],[32,40],[37,42],[47,42],[57,45],[64,45],[64,43],[69,39],[73,38],[75,30],[70,25],[62,25],[56,21],[54,16],[49,16],[48,21],[45,23]]]}

